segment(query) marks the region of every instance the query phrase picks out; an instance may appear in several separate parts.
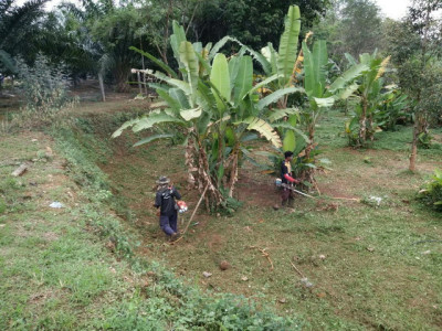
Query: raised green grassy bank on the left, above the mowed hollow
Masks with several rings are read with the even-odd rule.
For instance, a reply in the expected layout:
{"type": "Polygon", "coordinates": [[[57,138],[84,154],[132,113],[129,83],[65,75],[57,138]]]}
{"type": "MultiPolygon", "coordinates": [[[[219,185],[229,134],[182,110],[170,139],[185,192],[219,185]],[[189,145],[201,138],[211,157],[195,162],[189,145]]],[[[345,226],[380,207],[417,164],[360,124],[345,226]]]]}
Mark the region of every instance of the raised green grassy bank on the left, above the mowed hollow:
{"type": "Polygon", "coordinates": [[[0,141],[1,330],[298,329],[294,317],[238,296],[208,297],[134,256],[136,234],[109,209],[119,203],[124,211],[124,203],[96,166],[103,154],[91,148],[106,146],[82,131],[90,125],[57,127],[56,145],[40,132],[0,141]],[[53,157],[42,153],[46,147],[53,157]],[[22,161],[29,171],[11,178],[22,161]],[[50,209],[55,200],[64,207],[50,209]]]}

